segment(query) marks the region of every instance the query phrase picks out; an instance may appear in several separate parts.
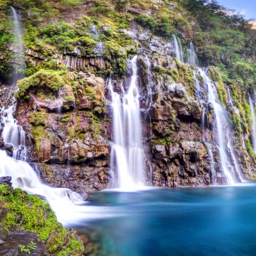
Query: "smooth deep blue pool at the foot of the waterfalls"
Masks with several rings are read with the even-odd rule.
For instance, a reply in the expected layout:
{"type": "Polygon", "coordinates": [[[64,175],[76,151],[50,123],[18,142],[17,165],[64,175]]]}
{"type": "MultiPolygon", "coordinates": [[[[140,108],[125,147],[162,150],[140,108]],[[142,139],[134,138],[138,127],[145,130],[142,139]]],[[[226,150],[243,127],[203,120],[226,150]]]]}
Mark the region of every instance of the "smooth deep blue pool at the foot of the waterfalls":
{"type": "Polygon", "coordinates": [[[256,254],[256,186],[93,193],[84,218],[96,255],[256,254]]]}

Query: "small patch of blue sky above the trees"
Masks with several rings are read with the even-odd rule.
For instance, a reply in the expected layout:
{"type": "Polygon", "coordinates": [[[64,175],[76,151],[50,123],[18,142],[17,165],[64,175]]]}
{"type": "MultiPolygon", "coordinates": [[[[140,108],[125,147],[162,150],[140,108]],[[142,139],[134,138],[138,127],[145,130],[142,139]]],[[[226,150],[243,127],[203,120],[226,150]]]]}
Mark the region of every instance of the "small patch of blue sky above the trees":
{"type": "Polygon", "coordinates": [[[220,5],[241,12],[245,19],[256,20],[255,0],[217,0],[220,5]]]}

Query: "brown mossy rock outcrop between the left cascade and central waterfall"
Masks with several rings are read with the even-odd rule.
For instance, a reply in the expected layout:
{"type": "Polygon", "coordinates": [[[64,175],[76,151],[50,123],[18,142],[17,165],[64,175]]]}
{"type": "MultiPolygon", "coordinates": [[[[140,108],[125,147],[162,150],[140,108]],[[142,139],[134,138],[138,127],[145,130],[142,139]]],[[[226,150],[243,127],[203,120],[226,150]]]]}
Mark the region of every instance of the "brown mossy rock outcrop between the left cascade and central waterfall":
{"type": "Polygon", "coordinates": [[[86,198],[108,186],[111,123],[104,80],[83,72],[68,72],[67,79],[53,98],[34,86],[19,101],[17,120],[27,134],[28,161],[41,178],[86,198]]]}

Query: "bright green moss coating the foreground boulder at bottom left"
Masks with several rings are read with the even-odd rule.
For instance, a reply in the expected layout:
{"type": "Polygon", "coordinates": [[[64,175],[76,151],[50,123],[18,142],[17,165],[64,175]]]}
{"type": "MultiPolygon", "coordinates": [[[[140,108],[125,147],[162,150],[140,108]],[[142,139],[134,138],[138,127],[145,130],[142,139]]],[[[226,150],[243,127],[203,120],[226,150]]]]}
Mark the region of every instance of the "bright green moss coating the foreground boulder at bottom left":
{"type": "Polygon", "coordinates": [[[28,195],[19,188],[12,189],[9,186],[0,185],[0,190],[2,191],[0,202],[7,210],[2,219],[6,230],[17,227],[35,232],[43,242],[53,234],[53,242],[47,250],[53,252],[54,248],[58,248],[60,250],[58,255],[76,255],[76,252],[83,252],[84,247],[81,241],[76,239],[74,233],[70,234],[69,230],[58,223],[56,215],[47,202],[38,196],[28,195]],[[66,240],[69,237],[70,243],[63,244],[61,247],[59,242],[63,241],[64,237],[66,240]]]}

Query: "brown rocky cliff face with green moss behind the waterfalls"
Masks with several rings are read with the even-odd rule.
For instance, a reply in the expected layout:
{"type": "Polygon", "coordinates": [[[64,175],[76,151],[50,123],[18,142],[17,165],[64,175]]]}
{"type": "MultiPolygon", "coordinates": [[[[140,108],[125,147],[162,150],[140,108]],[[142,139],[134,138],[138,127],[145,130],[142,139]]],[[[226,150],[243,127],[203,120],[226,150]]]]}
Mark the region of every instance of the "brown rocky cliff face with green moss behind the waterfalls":
{"type": "MultiPolygon", "coordinates": [[[[27,19],[24,6],[16,6],[20,17],[27,19]]],[[[196,20],[169,1],[83,1],[69,14],[60,6],[52,8],[60,12],[58,19],[26,24],[29,77],[18,83],[16,93],[15,117],[27,134],[28,161],[42,180],[71,188],[84,198],[86,192],[111,186],[115,170],[110,163],[113,128],[106,80],[113,77],[116,92],[122,86],[127,89],[129,58],[138,54],[146,183],[173,187],[227,184],[216,115],[207,100],[204,79],[198,68],[173,58],[175,31],[183,45],[195,40],[203,47],[196,37],[196,20]],[[60,22],[60,17],[66,22],[60,22]]],[[[15,63],[13,52],[15,47],[6,44],[3,65],[6,60],[15,63]]],[[[218,83],[218,98],[229,116],[225,131],[234,150],[227,148],[228,168],[236,169],[238,163],[234,178],[254,179],[247,92],[234,81],[223,83],[225,77],[221,78],[218,68],[205,72],[218,83]]],[[[6,98],[1,104],[8,105],[6,98]]]]}

